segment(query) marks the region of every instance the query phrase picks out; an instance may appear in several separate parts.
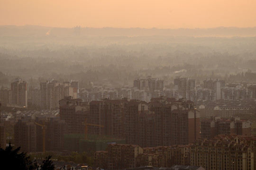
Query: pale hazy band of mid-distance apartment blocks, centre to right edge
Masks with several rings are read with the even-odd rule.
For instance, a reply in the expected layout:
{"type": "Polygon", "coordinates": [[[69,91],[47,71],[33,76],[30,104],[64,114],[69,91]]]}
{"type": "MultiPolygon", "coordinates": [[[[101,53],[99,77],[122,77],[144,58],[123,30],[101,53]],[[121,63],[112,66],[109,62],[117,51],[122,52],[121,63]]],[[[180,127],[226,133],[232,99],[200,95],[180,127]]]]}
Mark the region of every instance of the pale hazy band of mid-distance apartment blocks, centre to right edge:
{"type": "Polygon", "coordinates": [[[229,84],[224,80],[209,78],[201,85],[196,80],[176,76],[174,88],[165,87],[164,80],[159,78],[139,78],[134,80],[133,86],[109,88],[93,86],[91,89],[81,89],[79,98],[84,102],[130,98],[150,102],[151,98],[166,96],[176,100],[184,98],[193,102],[217,100],[247,100],[256,99],[256,85],[250,83],[229,84]]]}

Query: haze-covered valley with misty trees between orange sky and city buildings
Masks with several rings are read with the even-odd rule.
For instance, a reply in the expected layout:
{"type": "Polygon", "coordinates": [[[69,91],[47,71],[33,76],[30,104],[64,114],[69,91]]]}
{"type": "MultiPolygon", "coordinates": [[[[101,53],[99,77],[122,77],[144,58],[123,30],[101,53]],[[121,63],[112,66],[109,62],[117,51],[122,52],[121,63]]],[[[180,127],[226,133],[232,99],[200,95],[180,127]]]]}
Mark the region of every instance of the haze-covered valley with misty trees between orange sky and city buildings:
{"type": "Polygon", "coordinates": [[[20,77],[33,86],[54,78],[121,87],[147,75],[165,85],[175,76],[256,81],[255,29],[1,26],[0,84],[20,77]]]}

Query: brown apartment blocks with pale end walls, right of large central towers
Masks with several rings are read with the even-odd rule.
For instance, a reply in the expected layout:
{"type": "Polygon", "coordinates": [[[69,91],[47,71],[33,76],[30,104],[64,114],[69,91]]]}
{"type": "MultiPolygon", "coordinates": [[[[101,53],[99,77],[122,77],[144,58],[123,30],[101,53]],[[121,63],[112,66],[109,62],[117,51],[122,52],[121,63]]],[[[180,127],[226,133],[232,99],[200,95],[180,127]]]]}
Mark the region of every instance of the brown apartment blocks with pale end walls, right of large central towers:
{"type": "Polygon", "coordinates": [[[251,136],[251,121],[241,120],[238,117],[231,119],[220,119],[212,116],[211,119],[201,121],[201,138],[213,138],[216,135],[237,134],[240,136],[251,136]]]}

